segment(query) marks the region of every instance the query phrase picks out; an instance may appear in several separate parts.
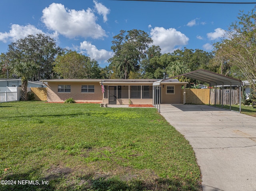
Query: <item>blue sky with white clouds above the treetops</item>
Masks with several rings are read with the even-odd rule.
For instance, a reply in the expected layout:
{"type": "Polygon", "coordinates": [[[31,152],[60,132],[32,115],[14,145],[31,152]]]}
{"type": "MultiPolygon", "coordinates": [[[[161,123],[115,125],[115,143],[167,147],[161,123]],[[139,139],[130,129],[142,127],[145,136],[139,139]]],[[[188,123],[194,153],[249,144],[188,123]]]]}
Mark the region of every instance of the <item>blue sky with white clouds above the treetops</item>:
{"type": "Polygon", "coordinates": [[[147,32],[154,40],[153,44],[160,46],[162,53],[184,47],[211,51],[212,44],[219,41],[228,26],[237,20],[240,10],[248,13],[255,5],[1,0],[0,53],[5,53],[12,41],[28,34],[44,33],[54,38],[60,47],[96,59],[104,67],[113,55],[113,36],[119,34],[120,30],[132,29],[147,32]]]}

